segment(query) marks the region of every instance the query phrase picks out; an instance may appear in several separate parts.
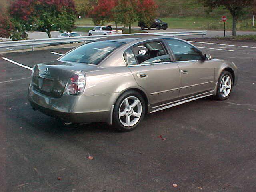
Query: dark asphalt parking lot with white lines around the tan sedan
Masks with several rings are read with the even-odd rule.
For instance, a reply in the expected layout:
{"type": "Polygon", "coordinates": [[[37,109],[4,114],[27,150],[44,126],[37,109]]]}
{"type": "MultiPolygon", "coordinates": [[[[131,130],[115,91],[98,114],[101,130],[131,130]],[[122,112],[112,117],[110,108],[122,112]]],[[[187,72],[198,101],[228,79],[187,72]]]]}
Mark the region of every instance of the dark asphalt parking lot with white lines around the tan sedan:
{"type": "Polygon", "coordinates": [[[102,123],[64,127],[33,111],[31,71],[2,59],[32,68],[70,48],[0,54],[0,191],[255,192],[256,43],[190,41],[238,66],[230,98],[146,115],[127,133],[102,123]]]}

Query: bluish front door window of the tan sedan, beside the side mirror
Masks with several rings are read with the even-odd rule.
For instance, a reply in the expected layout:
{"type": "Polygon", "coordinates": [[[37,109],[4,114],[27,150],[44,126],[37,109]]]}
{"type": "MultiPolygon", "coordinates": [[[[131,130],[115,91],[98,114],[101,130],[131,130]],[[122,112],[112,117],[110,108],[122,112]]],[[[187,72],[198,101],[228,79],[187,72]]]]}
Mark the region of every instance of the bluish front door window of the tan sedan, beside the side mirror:
{"type": "Polygon", "coordinates": [[[176,61],[201,60],[202,52],[190,44],[179,40],[166,40],[176,61]]]}

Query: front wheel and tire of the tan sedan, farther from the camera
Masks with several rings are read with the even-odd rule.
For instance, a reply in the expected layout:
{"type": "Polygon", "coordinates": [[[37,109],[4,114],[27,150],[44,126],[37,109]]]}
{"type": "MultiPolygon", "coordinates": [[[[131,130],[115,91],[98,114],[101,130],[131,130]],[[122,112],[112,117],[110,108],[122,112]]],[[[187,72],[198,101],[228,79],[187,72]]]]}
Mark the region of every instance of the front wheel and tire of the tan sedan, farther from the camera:
{"type": "Polygon", "coordinates": [[[232,88],[232,74],[228,71],[223,71],[218,79],[217,93],[216,96],[214,96],[214,99],[221,101],[228,99],[230,97],[230,93],[232,92],[232,88]]]}

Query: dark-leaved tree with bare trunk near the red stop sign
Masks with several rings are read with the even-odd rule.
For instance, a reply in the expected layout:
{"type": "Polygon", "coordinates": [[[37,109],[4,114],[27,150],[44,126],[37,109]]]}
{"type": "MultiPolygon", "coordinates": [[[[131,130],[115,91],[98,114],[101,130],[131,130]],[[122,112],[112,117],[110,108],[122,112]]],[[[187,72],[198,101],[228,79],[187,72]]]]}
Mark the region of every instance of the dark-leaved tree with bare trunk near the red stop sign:
{"type": "Polygon", "coordinates": [[[233,30],[232,35],[236,36],[236,23],[240,16],[244,15],[245,8],[252,5],[252,0],[199,0],[204,6],[209,7],[211,10],[224,6],[228,9],[233,17],[233,30]]]}

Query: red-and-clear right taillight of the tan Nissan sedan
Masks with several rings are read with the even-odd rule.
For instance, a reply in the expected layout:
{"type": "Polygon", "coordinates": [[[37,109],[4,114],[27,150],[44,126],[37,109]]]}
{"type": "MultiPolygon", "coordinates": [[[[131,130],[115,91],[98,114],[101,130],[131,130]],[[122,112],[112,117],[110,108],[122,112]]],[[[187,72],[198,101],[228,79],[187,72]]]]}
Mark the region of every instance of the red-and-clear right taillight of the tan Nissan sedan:
{"type": "Polygon", "coordinates": [[[84,92],[86,76],[84,72],[77,71],[69,78],[64,95],[80,95],[84,92]]]}

